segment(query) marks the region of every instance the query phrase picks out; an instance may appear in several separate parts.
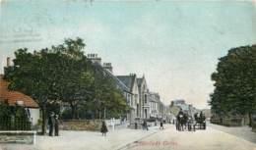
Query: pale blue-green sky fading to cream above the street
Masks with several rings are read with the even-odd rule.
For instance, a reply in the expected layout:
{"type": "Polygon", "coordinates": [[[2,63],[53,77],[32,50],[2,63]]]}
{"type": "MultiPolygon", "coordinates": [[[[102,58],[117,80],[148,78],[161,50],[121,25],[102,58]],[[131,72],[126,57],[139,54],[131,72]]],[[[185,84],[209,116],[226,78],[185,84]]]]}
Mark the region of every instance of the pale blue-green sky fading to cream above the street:
{"type": "Polygon", "coordinates": [[[209,108],[218,59],[256,43],[256,1],[1,0],[0,73],[18,48],[78,36],[114,75],[145,75],[163,103],[209,108]]]}

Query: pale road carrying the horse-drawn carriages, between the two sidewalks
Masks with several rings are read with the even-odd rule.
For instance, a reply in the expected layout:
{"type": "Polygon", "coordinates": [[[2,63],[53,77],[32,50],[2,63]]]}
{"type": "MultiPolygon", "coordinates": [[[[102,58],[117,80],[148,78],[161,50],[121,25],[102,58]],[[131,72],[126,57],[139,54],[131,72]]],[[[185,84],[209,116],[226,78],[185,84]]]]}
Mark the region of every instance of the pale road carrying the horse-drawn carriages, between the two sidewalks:
{"type": "Polygon", "coordinates": [[[170,126],[130,144],[127,150],[256,150],[256,144],[208,127],[206,130],[176,131],[170,126]]]}

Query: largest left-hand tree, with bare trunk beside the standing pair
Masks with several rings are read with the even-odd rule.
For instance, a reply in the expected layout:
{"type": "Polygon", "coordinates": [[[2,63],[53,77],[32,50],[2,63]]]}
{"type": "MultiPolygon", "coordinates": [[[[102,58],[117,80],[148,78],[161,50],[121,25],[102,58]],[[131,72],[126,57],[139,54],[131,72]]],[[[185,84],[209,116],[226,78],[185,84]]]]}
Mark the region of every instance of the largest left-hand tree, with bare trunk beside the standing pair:
{"type": "Polygon", "coordinates": [[[42,112],[42,133],[46,131],[47,105],[68,102],[75,106],[90,93],[92,75],[82,52],[84,46],[83,40],[77,38],[33,53],[27,48],[18,49],[14,66],[6,69],[9,88],[30,95],[38,103],[42,112]]]}

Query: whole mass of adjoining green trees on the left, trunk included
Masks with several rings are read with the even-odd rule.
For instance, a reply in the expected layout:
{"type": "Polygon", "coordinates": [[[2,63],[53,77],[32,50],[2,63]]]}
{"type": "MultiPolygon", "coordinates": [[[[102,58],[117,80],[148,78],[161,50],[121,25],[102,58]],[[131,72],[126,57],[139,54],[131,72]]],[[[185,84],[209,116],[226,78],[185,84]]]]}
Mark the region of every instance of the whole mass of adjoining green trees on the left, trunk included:
{"type": "Polygon", "coordinates": [[[97,112],[98,118],[103,109],[114,114],[126,110],[121,92],[85,56],[85,46],[77,38],[33,52],[21,48],[15,52],[14,66],[5,69],[9,89],[30,95],[38,103],[43,133],[49,111],[57,113],[63,104],[69,105],[73,119],[79,118],[81,110],[97,112]]]}

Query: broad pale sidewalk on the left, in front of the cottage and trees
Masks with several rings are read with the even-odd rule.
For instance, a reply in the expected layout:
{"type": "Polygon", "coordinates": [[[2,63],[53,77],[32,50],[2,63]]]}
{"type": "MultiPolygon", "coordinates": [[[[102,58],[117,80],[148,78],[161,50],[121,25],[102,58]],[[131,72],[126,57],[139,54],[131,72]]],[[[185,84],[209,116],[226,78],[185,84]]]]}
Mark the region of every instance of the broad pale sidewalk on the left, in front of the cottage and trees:
{"type": "MultiPolygon", "coordinates": [[[[168,127],[165,125],[164,127],[168,127]]],[[[149,130],[108,128],[106,136],[93,131],[61,130],[58,137],[37,136],[35,145],[2,144],[3,150],[118,150],[127,144],[160,131],[160,126],[152,126],[149,130]]]]}

